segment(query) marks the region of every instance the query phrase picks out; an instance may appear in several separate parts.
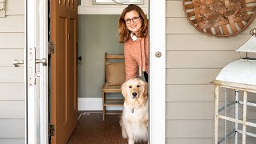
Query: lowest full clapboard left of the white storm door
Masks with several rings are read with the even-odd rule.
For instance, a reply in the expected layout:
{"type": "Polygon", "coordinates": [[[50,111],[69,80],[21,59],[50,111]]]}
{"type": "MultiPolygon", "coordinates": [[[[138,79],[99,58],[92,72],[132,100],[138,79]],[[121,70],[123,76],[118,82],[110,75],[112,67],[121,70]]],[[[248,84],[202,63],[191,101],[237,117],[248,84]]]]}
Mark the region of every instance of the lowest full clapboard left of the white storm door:
{"type": "Polygon", "coordinates": [[[0,138],[25,138],[25,119],[0,119],[0,138]]]}

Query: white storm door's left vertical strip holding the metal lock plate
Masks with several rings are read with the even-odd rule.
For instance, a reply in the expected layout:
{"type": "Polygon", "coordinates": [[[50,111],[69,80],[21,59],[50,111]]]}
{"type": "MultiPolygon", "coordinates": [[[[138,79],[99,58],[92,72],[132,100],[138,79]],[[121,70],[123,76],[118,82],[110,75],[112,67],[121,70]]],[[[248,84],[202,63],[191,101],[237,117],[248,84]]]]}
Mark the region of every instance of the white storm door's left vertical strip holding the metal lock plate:
{"type": "Polygon", "coordinates": [[[36,1],[26,1],[26,90],[27,90],[27,123],[26,123],[26,143],[32,144],[38,142],[38,130],[36,121],[36,95],[35,95],[35,51],[36,47],[36,1]]]}

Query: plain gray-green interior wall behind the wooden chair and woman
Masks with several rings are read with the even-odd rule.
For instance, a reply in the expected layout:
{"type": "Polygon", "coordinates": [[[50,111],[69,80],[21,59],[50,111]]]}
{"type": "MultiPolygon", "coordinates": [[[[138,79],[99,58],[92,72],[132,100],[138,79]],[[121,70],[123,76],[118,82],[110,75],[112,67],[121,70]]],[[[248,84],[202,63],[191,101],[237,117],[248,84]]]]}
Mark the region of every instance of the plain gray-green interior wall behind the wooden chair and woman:
{"type": "Polygon", "coordinates": [[[104,55],[123,54],[118,42],[120,15],[78,15],[78,98],[102,98],[104,55]]]}

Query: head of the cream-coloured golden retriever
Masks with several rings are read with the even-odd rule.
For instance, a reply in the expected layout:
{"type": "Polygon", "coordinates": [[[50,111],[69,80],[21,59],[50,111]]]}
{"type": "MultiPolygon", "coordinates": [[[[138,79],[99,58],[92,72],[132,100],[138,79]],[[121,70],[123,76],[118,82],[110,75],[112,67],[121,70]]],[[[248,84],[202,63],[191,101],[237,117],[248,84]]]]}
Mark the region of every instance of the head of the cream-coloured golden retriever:
{"type": "Polygon", "coordinates": [[[140,78],[131,78],[122,84],[122,95],[130,100],[147,97],[147,82],[140,78]]]}

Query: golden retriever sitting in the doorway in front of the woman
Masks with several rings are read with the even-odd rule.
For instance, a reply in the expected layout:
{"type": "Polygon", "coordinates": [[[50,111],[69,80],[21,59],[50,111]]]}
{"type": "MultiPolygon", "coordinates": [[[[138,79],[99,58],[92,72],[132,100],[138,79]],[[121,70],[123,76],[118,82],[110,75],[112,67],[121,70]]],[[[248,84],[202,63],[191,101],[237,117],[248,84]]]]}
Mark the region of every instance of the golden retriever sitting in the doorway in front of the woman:
{"type": "Polygon", "coordinates": [[[122,137],[129,144],[147,142],[149,138],[149,100],[147,82],[132,78],[122,84],[123,104],[120,125],[122,137]]]}

